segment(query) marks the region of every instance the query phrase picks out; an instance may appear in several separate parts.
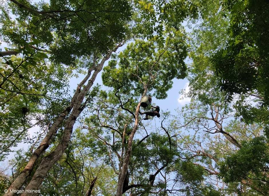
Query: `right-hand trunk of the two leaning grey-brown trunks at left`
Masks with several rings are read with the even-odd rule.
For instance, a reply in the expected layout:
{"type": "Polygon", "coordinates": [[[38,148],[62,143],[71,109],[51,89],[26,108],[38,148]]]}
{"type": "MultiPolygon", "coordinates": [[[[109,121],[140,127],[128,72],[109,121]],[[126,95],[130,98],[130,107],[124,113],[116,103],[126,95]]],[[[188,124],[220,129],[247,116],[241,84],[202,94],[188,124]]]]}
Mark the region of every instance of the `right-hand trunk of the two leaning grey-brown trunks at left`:
{"type": "MultiPolygon", "coordinates": [[[[122,45],[123,44],[118,45],[116,49],[118,49],[118,47],[122,45]]],[[[64,134],[62,136],[62,141],[56,146],[56,148],[49,155],[47,155],[46,157],[42,159],[41,163],[39,164],[39,167],[35,171],[31,181],[29,182],[25,190],[37,190],[39,186],[41,185],[44,177],[50,170],[50,168],[54,165],[54,163],[56,163],[56,161],[60,159],[60,157],[64,153],[65,149],[68,146],[68,142],[71,138],[74,123],[76,122],[78,115],[84,109],[84,108],[81,108],[81,104],[84,100],[84,97],[87,94],[87,92],[90,90],[94,80],[96,79],[97,74],[102,70],[104,62],[106,62],[106,60],[110,58],[113,51],[114,50],[110,50],[108,54],[101,60],[100,64],[98,64],[97,68],[95,68],[94,73],[92,74],[92,77],[88,81],[88,84],[81,90],[81,92],[79,92],[76,102],[74,104],[72,113],[70,114],[66,122],[64,134]]],[[[35,193],[23,193],[22,194],[22,196],[25,196],[25,195],[35,195],[35,193]]]]}

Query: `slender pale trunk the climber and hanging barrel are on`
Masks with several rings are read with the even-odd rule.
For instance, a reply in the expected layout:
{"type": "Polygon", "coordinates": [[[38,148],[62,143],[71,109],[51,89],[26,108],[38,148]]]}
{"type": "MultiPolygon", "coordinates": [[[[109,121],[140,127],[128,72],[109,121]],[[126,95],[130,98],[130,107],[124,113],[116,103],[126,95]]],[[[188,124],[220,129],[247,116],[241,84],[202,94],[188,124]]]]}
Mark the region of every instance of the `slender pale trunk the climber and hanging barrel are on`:
{"type": "MultiPolygon", "coordinates": [[[[144,89],[145,90],[143,92],[142,97],[146,95],[147,85],[146,85],[146,87],[144,89]]],[[[138,128],[138,120],[139,120],[138,112],[139,112],[139,109],[140,109],[140,105],[141,105],[141,102],[139,102],[139,104],[137,104],[137,108],[136,108],[135,113],[134,113],[134,116],[135,116],[134,127],[132,128],[132,132],[131,132],[131,134],[129,136],[129,139],[128,139],[128,147],[127,147],[127,151],[126,151],[124,161],[122,163],[122,168],[119,169],[119,171],[121,171],[121,172],[119,173],[116,196],[121,196],[122,192],[123,192],[124,180],[126,178],[126,174],[127,174],[127,171],[128,171],[130,154],[132,152],[132,140],[133,140],[134,134],[135,134],[135,132],[137,131],[137,128],[138,128]]]]}

